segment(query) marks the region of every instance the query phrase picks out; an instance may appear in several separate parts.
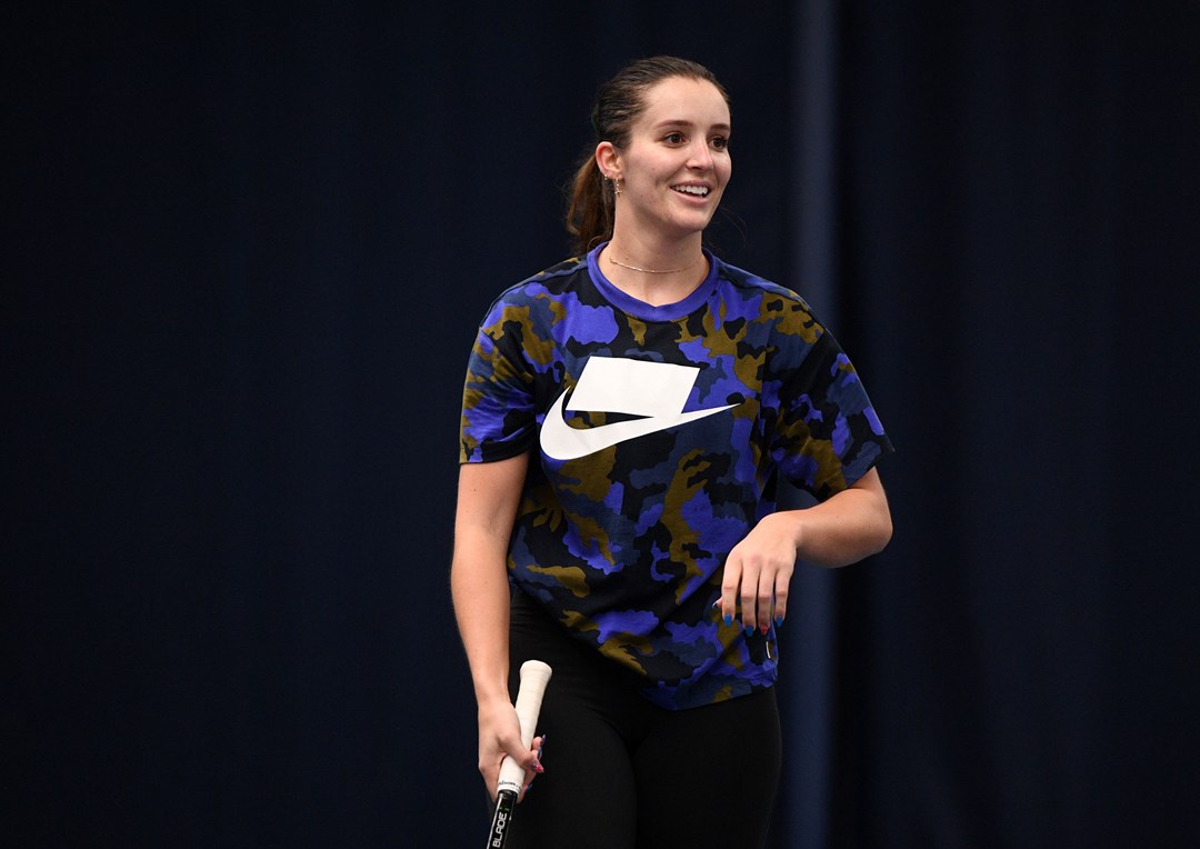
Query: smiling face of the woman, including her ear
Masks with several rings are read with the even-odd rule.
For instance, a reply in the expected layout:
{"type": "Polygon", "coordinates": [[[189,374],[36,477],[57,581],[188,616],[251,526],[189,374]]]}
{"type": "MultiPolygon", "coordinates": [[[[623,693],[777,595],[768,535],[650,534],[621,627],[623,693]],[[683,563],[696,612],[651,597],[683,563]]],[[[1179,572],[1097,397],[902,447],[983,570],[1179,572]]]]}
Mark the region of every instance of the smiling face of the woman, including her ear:
{"type": "Polygon", "coordinates": [[[703,79],[670,77],[647,91],[629,144],[612,150],[619,169],[618,228],[682,238],[708,226],[733,173],[730,109],[703,79]]]}

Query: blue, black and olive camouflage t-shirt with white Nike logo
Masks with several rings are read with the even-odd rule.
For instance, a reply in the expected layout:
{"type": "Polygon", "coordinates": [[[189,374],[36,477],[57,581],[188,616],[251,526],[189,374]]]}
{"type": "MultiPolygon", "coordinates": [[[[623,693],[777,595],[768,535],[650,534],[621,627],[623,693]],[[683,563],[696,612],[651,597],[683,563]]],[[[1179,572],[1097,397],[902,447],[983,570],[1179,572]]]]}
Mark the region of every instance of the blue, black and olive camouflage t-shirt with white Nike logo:
{"type": "Polygon", "coordinates": [[[793,292],[712,255],[688,298],[608,282],[602,245],[504,292],[467,371],[462,462],[533,449],[509,578],[679,710],[774,683],[774,630],[713,603],[776,479],[824,500],[892,444],[853,366],[793,292]]]}

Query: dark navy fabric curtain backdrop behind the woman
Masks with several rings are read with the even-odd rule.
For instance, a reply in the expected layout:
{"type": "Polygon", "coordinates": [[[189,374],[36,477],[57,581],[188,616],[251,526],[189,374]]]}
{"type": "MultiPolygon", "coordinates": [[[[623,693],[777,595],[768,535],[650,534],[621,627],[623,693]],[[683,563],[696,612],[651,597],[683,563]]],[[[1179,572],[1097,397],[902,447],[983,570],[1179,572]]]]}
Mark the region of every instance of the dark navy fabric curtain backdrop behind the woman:
{"type": "Polygon", "coordinates": [[[653,53],[899,449],[888,550],[796,579],[773,845],[1200,839],[1200,6],[492,10],[4,13],[13,844],[481,841],[467,351],[653,53]]]}

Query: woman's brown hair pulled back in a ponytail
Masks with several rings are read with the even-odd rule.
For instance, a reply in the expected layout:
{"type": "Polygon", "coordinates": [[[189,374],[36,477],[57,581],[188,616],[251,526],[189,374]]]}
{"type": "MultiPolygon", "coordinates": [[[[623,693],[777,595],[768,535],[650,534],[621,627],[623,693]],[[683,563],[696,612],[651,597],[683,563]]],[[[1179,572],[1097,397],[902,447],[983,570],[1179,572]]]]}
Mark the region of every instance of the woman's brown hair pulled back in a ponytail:
{"type": "Polygon", "coordinates": [[[575,250],[580,253],[587,253],[612,238],[614,198],[596,165],[595,145],[600,142],[611,142],[617,149],[628,145],[630,128],[646,109],[646,92],[671,77],[707,80],[721,92],[726,106],[730,102],[730,95],[716,82],[712,71],[698,62],[676,56],[638,59],[600,86],[592,107],[595,143],[575,172],[571,202],[566,211],[566,231],[575,237],[575,250]]]}

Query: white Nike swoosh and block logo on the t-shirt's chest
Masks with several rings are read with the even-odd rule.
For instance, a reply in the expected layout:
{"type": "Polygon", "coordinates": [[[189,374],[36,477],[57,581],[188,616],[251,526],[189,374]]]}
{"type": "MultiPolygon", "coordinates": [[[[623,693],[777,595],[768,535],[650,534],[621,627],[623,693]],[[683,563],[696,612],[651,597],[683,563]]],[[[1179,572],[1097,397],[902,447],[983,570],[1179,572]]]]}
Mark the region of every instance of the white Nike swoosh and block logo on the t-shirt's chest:
{"type": "Polygon", "coordinates": [[[563,419],[563,406],[568,395],[564,391],[542,421],[542,453],[554,460],[576,460],[620,442],[696,421],[737,406],[727,403],[690,413],[667,412],[665,406],[682,409],[698,372],[698,369],[691,366],[606,357],[590,358],[575,387],[570,409],[648,414],[642,419],[614,421],[596,428],[571,428],[563,419]],[[602,406],[593,406],[600,399],[606,402],[602,406]]]}

